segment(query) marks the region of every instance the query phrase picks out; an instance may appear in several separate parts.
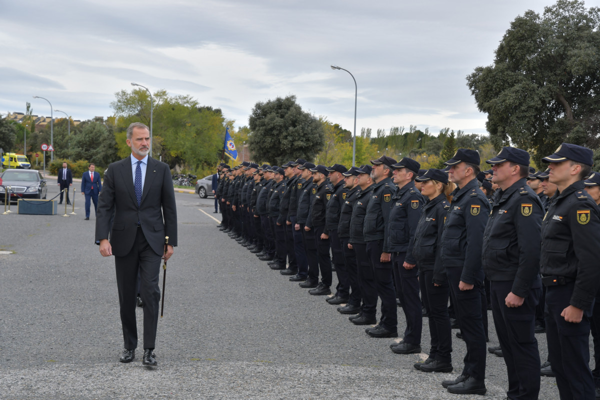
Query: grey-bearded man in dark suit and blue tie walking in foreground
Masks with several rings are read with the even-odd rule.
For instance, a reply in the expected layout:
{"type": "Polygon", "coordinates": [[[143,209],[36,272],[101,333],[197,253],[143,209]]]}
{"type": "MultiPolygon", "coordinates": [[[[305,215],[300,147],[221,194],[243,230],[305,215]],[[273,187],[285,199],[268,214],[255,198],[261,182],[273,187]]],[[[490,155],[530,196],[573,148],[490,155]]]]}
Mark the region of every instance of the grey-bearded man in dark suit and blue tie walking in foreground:
{"type": "Polygon", "coordinates": [[[177,210],[169,166],[148,157],[149,143],[146,125],[134,122],[127,128],[131,156],[110,164],[106,171],[98,201],[96,242],[104,257],[115,255],[125,347],[120,361],[131,362],[135,357],[139,273],[144,303],[143,364],[157,365],[154,348],[160,260],[168,260],[177,245],[177,210]],[[168,246],[165,236],[169,236],[168,246]]]}

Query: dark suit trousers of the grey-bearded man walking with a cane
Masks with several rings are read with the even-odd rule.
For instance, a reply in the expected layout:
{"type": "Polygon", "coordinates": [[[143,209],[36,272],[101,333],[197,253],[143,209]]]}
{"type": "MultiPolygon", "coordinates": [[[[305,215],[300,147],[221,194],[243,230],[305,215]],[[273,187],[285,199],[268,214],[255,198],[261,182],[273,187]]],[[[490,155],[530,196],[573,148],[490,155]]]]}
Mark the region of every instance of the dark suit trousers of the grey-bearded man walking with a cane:
{"type": "Polygon", "coordinates": [[[133,350],[137,347],[136,299],[137,276],[140,276],[139,293],[144,302],[144,348],[155,348],[158,323],[158,288],[160,260],[152,250],[142,228],[137,228],[136,239],[129,254],[115,256],[116,284],[119,291],[121,324],[123,327],[124,347],[133,350]]]}

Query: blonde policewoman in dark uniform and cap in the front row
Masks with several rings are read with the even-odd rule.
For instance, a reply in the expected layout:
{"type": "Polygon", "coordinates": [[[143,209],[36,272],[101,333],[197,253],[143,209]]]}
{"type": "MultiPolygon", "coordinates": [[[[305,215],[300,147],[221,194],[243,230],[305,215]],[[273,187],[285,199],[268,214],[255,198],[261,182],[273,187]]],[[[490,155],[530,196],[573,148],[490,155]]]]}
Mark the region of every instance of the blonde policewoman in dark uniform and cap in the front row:
{"type": "Polygon", "coordinates": [[[421,193],[427,198],[415,231],[413,255],[419,268],[421,299],[429,319],[431,348],[425,362],[414,366],[424,372],[452,372],[452,330],[448,315],[450,291],[439,251],[444,221],[450,209],[445,195],[448,174],[429,169],[415,180],[421,182],[421,193]]]}

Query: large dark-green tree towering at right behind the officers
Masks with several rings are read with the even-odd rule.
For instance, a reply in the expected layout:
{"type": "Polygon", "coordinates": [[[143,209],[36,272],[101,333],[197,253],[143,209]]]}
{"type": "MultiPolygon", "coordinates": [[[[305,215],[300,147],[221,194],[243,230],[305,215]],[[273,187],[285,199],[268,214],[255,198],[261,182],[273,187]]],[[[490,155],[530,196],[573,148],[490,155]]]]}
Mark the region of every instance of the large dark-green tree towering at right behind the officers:
{"type": "Polygon", "coordinates": [[[512,143],[541,158],[561,142],[600,145],[600,8],[559,0],[518,16],[494,64],[467,76],[496,151],[512,143]]]}

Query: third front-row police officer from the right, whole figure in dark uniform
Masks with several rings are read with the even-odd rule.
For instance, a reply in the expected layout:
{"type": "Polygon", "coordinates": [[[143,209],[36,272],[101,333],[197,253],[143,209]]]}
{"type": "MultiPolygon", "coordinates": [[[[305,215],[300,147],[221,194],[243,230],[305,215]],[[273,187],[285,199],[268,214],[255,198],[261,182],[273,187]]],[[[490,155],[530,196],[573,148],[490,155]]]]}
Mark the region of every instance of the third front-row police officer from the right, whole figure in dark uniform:
{"type": "Polygon", "coordinates": [[[442,386],[457,394],[484,394],[487,391],[481,245],[490,201],[479,189],[476,178],[479,161],[479,153],[475,150],[458,149],[454,157],[444,163],[450,167],[448,178],[457,189],[452,193],[452,204],[440,239],[442,266],[446,268],[467,354],[458,378],[443,381],[442,386]]]}

